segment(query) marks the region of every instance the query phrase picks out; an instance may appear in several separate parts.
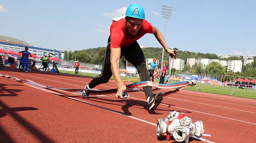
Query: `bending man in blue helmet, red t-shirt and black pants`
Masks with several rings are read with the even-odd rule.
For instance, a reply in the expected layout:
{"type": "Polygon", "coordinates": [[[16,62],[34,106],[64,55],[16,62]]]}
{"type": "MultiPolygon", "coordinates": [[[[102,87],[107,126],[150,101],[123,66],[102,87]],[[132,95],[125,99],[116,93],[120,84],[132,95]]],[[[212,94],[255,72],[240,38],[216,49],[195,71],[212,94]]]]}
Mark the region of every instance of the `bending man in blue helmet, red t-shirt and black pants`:
{"type": "MultiPolygon", "coordinates": [[[[121,98],[121,93],[126,90],[119,71],[119,60],[122,56],[136,67],[141,81],[150,81],[143,51],[137,43],[137,40],[147,33],[154,34],[166,52],[175,55],[174,50],[168,48],[161,32],[145,20],[144,10],[139,4],[131,4],[126,9],[125,16],[112,21],[102,73],[86,84],[82,96],[89,96],[90,91],[86,89],[108,82],[113,75],[118,88],[116,97],[121,98]]],[[[153,94],[150,86],[143,89],[148,101],[148,110],[153,111],[163,100],[163,93],[153,94]]]]}

